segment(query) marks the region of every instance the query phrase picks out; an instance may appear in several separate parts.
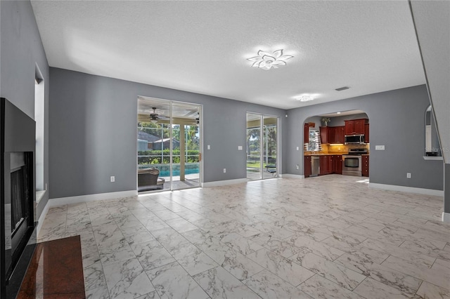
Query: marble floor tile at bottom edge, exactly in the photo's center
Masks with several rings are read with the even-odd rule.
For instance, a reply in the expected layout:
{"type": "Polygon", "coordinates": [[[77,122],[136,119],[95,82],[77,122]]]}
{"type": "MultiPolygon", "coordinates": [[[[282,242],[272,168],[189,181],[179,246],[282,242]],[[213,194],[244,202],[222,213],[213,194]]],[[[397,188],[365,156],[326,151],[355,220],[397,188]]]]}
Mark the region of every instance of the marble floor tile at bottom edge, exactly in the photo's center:
{"type": "Polygon", "coordinates": [[[214,267],[193,277],[211,298],[259,298],[259,296],[226,272],[222,267],[214,267]]]}

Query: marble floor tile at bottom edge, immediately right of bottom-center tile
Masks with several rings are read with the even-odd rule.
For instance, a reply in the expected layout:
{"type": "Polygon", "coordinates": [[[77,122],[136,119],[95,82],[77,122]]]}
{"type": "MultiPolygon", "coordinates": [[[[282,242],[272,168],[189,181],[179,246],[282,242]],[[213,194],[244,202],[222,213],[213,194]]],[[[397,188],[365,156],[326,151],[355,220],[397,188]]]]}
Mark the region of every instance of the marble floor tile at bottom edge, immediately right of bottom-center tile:
{"type": "Polygon", "coordinates": [[[288,284],[267,270],[263,270],[243,281],[245,285],[252,289],[259,297],[271,298],[311,298],[309,295],[288,284]]]}

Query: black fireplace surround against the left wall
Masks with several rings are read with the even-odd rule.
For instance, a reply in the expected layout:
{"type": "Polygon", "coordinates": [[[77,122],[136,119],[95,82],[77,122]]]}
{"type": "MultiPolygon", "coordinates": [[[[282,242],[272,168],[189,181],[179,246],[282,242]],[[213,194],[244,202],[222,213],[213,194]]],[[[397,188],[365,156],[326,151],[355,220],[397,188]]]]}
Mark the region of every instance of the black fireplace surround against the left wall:
{"type": "Polygon", "coordinates": [[[0,108],[0,297],[15,298],[36,246],[36,124],[4,98],[0,108]]]}

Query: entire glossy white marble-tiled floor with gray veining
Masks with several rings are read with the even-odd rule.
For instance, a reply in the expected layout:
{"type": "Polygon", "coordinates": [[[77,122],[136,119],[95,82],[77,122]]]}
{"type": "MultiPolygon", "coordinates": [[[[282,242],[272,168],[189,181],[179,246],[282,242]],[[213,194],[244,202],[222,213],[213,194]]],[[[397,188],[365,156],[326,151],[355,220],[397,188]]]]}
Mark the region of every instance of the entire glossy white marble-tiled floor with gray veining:
{"type": "Polygon", "coordinates": [[[442,197],[324,175],[51,208],[89,298],[449,298],[442,197]],[[140,297],[143,296],[143,297],[140,297]]]}

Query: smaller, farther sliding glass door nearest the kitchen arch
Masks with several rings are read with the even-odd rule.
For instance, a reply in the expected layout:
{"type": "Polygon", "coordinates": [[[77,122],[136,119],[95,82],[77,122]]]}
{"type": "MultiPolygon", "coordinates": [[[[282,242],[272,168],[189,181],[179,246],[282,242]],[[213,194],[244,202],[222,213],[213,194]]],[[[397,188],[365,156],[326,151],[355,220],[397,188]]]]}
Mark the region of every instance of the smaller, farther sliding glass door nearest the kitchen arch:
{"type": "Polygon", "coordinates": [[[278,117],[247,114],[247,178],[277,177],[278,117]]]}

